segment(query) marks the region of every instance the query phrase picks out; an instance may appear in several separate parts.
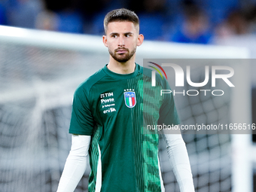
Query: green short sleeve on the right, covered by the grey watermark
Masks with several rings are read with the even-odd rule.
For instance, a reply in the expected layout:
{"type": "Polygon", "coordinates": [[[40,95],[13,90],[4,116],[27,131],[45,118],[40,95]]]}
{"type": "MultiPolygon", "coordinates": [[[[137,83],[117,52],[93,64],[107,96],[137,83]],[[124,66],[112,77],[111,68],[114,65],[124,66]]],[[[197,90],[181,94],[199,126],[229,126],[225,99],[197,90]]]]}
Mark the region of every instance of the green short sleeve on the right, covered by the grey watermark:
{"type": "MultiPolygon", "coordinates": [[[[167,81],[163,84],[164,90],[171,90],[167,81]]],[[[163,94],[163,104],[160,107],[160,117],[158,119],[158,124],[165,125],[178,125],[180,120],[178,118],[178,112],[175,108],[175,102],[172,93],[163,94]]]]}

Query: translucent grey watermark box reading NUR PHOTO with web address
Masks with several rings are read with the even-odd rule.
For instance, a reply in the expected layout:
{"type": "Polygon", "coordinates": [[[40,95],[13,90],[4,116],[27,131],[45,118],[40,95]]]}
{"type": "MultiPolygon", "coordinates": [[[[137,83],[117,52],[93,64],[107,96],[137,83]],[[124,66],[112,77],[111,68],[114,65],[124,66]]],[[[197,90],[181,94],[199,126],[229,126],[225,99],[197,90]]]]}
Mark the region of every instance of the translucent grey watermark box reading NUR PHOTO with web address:
{"type": "Polygon", "coordinates": [[[250,109],[245,107],[250,94],[246,88],[248,71],[244,70],[248,61],[144,59],[144,75],[148,77],[144,95],[153,101],[144,102],[144,117],[153,122],[144,126],[145,133],[251,134],[255,124],[246,117],[250,109]],[[160,113],[151,115],[154,108],[160,113]],[[168,110],[176,113],[179,121],[168,119],[168,110]]]}

